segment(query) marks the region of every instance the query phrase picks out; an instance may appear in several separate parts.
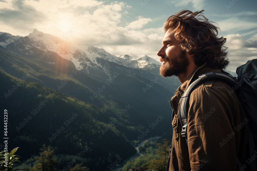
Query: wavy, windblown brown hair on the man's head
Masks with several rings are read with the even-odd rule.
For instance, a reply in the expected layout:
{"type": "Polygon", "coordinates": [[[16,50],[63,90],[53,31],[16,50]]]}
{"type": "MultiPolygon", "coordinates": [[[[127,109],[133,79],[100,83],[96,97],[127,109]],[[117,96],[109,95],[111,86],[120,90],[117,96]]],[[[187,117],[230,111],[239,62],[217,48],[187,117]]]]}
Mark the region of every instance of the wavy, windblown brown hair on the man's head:
{"type": "Polygon", "coordinates": [[[203,11],[179,11],[166,20],[164,31],[175,29],[174,36],[180,42],[180,48],[194,55],[196,65],[207,62],[209,67],[224,71],[229,64],[227,47],[224,46],[226,38],[218,37],[219,27],[213,24],[215,22],[208,21],[202,15],[203,11]]]}

